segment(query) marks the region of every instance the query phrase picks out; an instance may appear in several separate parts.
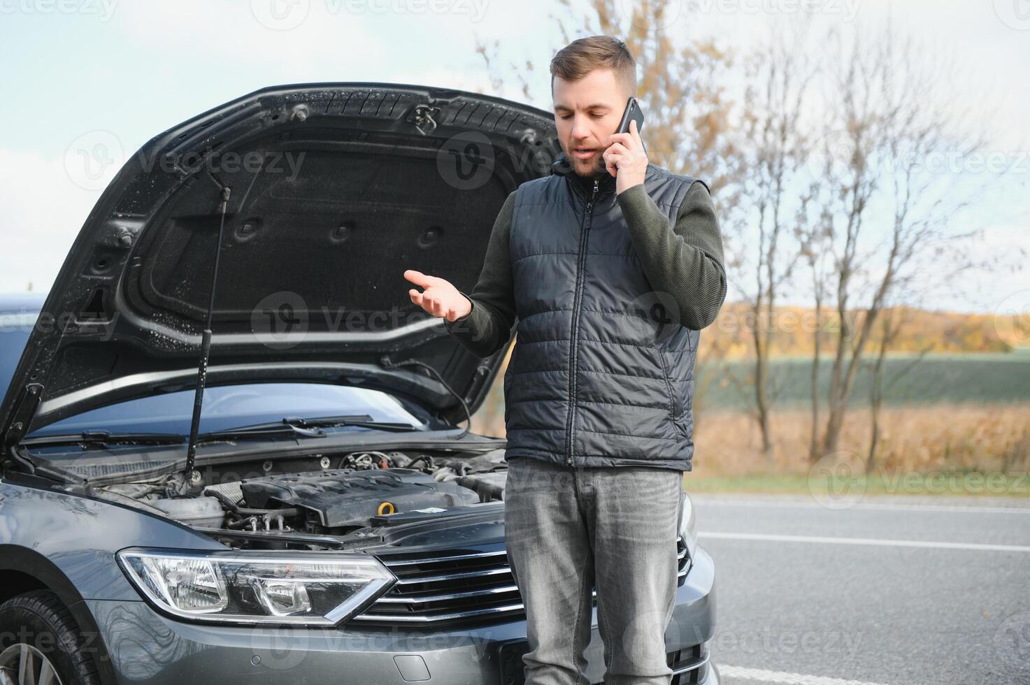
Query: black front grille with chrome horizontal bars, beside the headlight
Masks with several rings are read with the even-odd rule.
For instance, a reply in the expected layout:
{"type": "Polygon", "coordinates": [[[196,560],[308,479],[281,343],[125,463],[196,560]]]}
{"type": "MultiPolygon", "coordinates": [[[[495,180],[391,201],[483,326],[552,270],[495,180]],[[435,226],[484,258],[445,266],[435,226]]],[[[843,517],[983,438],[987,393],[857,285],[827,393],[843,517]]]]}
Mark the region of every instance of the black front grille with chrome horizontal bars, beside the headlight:
{"type": "MultiPolygon", "coordinates": [[[[525,618],[522,596],[508,566],[504,544],[474,552],[379,555],[398,582],[365,612],[350,619],[362,624],[447,626],[486,624],[525,618]]],[[[679,578],[690,559],[677,540],[679,578]]],[[[593,590],[596,604],[597,590],[593,590]]]]}

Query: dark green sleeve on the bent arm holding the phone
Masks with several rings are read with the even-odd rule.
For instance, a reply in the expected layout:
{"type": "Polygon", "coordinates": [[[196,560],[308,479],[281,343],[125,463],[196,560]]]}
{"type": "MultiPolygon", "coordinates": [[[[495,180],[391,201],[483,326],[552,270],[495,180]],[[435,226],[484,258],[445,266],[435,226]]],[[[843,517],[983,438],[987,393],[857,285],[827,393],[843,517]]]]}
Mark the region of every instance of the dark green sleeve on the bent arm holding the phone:
{"type": "Polygon", "coordinates": [[[719,220],[705,184],[694,181],[687,190],[675,227],[643,183],[616,197],[648,281],[676,303],[678,312],[670,314],[693,331],[714,322],[726,299],[726,271],[719,220]]]}

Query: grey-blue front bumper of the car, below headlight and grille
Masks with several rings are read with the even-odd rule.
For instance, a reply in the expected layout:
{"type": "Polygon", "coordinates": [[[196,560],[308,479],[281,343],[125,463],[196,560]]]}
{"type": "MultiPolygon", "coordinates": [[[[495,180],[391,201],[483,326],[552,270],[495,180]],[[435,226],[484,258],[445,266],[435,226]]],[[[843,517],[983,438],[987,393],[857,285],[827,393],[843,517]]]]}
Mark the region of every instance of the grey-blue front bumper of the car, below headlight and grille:
{"type": "MultiPolygon", "coordinates": [[[[525,639],[524,620],[455,631],[249,628],[172,620],[143,602],[87,601],[87,605],[123,684],[511,685],[502,683],[503,669],[506,675],[514,674],[512,683],[521,682],[521,669],[512,669],[511,663],[502,666],[502,661],[506,654],[519,653],[513,648],[525,639]]],[[[600,683],[605,673],[596,622],[595,609],[586,650],[591,683],[600,683]]],[[[677,589],[665,651],[701,645],[714,631],[715,568],[698,547],[686,581],[677,589]]],[[[703,682],[717,685],[717,672],[709,667],[708,674],[703,682]]]]}

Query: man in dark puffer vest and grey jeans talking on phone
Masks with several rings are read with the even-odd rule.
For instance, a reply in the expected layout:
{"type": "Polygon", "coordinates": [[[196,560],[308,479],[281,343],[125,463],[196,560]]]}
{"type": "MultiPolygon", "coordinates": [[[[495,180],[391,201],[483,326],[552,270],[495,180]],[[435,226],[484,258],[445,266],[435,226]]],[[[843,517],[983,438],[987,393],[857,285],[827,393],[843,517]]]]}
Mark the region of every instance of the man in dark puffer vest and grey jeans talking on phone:
{"type": "MultiPolygon", "coordinates": [[[[591,591],[608,684],[666,684],[683,472],[700,329],[726,295],[708,187],[615,134],[636,63],[609,36],[551,62],[562,153],[501,209],[471,295],[417,271],[412,302],[505,373],[509,560],[526,609],[526,683],[586,683],[591,591]]],[[[646,114],[646,112],[645,112],[646,114]]]]}

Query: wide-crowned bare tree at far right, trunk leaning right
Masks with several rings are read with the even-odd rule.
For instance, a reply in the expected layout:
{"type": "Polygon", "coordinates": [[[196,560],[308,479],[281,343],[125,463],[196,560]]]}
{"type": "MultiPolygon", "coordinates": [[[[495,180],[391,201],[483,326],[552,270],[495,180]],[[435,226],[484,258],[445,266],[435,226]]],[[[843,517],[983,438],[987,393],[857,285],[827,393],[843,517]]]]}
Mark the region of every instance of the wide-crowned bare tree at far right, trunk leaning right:
{"type": "Polygon", "coordinates": [[[837,449],[855,375],[885,302],[920,265],[952,259],[971,233],[950,219],[974,197],[958,174],[928,161],[963,159],[983,143],[963,131],[956,107],[933,106],[947,65],[921,54],[893,27],[858,27],[854,40],[831,36],[828,60],[839,65],[829,102],[835,131],[824,141],[827,196],[834,203],[832,239],[839,329],[830,371],[823,454],[837,449]],[[864,294],[864,295],[863,295],[864,294]],[[867,299],[853,324],[849,312],[867,299]]]}

